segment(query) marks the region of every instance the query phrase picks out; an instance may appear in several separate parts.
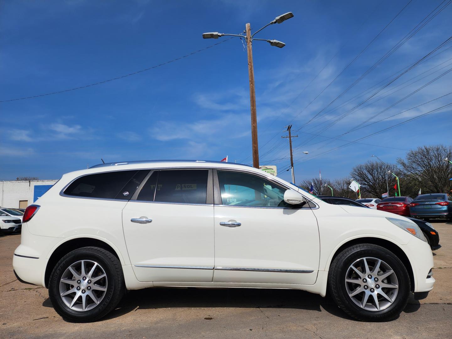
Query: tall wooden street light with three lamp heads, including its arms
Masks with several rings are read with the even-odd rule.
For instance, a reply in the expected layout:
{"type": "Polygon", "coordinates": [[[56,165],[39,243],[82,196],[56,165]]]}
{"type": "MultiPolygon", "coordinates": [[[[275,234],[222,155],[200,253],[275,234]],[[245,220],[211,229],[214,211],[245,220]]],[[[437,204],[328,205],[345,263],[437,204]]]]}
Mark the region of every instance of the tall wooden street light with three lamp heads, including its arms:
{"type": "Polygon", "coordinates": [[[225,34],[225,33],[218,33],[218,32],[210,32],[210,33],[203,33],[202,38],[204,39],[218,39],[219,37],[228,35],[232,37],[240,37],[244,38],[246,41],[246,48],[248,52],[248,76],[250,78],[250,107],[251,107],[251,140],[252,140],[252,149],[253,149],[253,166],[255,168],[259,168],[259,148],[258,148],[258,140],[257,140],[257,117],[256,117],[256,93],[254,89],[254,67],[253,67],[253,48],[252,48],[252,42],[253,40],[260,40],[260,41],[266,41],[271,46],[282,48],[286,46],[284,42],[278,41],[278,40],[267,40],[267,39],[256,39],[254,38],[254,35],[262,31],[265,27],[273,24],[281,24],[283,21],[290,19],[293,17],[292,12],[287,12],[282,15],[277,16],[273,21],[271,21],[269,24],[266,24],[264,27],[258,29],[256,32],[251,35],[251,25],[246,24],[245,25],[245,31],[243,33],[246,33],[246,35],[242,34],[225,34]]]}

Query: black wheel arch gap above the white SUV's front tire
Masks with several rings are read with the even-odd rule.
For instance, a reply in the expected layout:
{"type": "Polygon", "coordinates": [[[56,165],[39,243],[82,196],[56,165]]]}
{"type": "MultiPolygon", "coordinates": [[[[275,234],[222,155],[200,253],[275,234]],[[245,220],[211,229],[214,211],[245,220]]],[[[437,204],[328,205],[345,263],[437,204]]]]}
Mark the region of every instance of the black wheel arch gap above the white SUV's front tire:
{"type": "Polygon", "coordinates": [[[333,256],[328,262],[328,270],[330,269],[330,265],[333,262],[334,258],[342,252],[342,250],[353,246],[357,244],[372,244],[372,245],[378,245],[381,247],[384,247],[386,250],[390,250],[392,253],[394,253],[404,264],[406,270],[408,271],[408,275],[410,276],[410,285],[411,285],[411,292],[414,292],[414,273],[413,268],[410,264],[410,259],[408,259],[408,256],[405,254],[405,252],[400,248],[399,245],[386,240],[382,238],[376,238],[376,237],[363,237],[363,238],[355,238],[352,240],[348,240],[344,244],[340,245],[339,248],[334,252],[333,256]]]}

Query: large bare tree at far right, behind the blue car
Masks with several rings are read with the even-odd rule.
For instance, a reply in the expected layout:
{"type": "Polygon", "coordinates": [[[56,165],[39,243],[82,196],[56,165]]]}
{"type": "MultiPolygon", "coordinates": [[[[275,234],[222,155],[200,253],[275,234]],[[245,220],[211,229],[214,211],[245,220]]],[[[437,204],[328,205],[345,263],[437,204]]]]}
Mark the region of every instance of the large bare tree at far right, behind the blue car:
{"type": "Polygon", "coordinates": [[[452,165],[444,158],[452,157],[452,146],[421,146],[397,159],[402,171],[412,184],[425,193],[449,193],[452,188],[452,165]]]}

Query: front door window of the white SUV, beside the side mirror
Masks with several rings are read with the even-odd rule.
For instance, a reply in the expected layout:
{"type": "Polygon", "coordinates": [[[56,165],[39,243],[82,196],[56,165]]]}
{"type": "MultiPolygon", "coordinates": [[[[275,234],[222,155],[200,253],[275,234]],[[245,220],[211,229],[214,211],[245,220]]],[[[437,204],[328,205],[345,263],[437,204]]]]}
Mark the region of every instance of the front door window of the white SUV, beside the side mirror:
{"type": "Polygon", "coordinates": [[[285,188],[262,177],[235,172],[217,171],[221,202],[229,206],[288,207],[285,188]]]}

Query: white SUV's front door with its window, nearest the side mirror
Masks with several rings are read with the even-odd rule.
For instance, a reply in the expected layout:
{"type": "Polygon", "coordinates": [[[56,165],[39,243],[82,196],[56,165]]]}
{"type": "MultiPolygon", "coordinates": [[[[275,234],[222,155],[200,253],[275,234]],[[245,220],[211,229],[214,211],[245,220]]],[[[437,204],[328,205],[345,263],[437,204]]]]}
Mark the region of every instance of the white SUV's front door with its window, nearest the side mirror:
{"type": "Polygon", "coordinates": [[[221,201],[221,205],[215,205],[214,211],[213,281],[314,284],[320,256],[314,213],[310,208],[270,207],[284,205],[278,199],[287,188],[256,177],[214,173],[221,193],[216,202],[221,201]],[[249,193],[243,187],[256,192],[249,193]],[[259,204],[267,207],[256,206],[259,204]],[[240,226],[220,224],[225,222],[240,226]]]}

